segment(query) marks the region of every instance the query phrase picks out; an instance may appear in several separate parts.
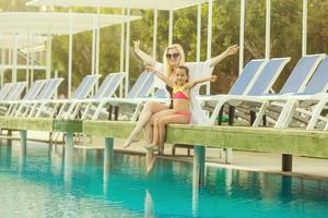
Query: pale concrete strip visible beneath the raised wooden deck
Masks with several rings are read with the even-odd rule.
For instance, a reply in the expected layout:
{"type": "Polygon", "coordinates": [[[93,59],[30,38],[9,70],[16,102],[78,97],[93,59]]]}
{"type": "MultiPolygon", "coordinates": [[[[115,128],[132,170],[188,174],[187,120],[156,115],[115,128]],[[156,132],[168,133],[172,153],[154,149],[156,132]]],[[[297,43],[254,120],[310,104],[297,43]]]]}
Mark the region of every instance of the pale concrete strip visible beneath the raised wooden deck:
{"type": "MultiPolygon", "coordinates": [[[[19,135],[17,135],[19,136],[19,135]]],[[[48,134],[44,132],[28,133],[30,138],[46,140],[48,134]]],[[[86,145],[82,145],[83,148],[91,149],[103,149],[105,142],[103,137],[92,137],[84,140],[86,145]]],[[[84,144],[83,143],[83,144],[84,144]]],[[[116,140],[114,148],[117,152],[133,153],[144,155],[145,149],[143,148],[144,142],[132,144],[129,148],[122,147],[124,140],[116,140]]],[[[80,145],[78,145],[79,147],[80,145]]],[[[28,148],[27,148],[28,149],[28,148]]],[[[172,155],[172,145],[165,146],[165,156],[161,158],[172,158],[175,160],[192,161],[192,149],[191,156],[187,156],[186,148],[176,148],[176,155],[172,155]]],[[[243,152],[234,150],[232,164],[225,164],[224,155],[218,148],[207,148],[207,165],[215,166],[230,169],[239,169],[256,172],[269,172],[279,174],[292,174],[296,177],[309,177],[315,179],[328,180],[328,159],[324,158],[308,158],[308,157],[296,157],[293,156],[293,172],[281,171],[281,154],[269,154],[269,153],[255,153],[255,152],[243,152]]]]}

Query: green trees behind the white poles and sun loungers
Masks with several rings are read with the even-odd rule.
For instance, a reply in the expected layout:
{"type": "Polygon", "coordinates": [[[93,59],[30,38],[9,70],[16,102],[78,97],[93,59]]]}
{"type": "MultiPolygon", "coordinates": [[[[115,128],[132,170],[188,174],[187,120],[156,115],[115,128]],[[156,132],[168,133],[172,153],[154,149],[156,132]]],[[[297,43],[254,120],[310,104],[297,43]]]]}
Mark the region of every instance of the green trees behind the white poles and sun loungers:
{"type": "MultiPolygon", "coordinates": [[[[224,51],[229,46],[239,43],[239,0],[213,1],[212,56],[224,51]]],[[[37,11],[26,8],[25,0],[0,0],[2,11],[37,11]]],[[[307,53],[325,52],[328,47],[328,0],[308,0],[308,43],[307,53]]],[[[68,11],[56,8],[56,11],[68,11]]],[[[95,13],[92,8],[74,8],[74,12],[95,13]]],[[[102,9],[102,13],[121,14],[119,9],[102,9]]],[[[143,19],[131,23],[130,80],[131,83],[143,70],[143,63],[133,53],[132,40],[140,39],[141,48],[152,53],[153,11],[131,10],[132,15],[143,19]]],[[[207,59],[208,4],[202,5],[201,16],[201,60],[207,59]]],[[[157,53],[162,61],[162,52],[168,41],[168,12],[159,12],[157,53]]],[[[99,72],[107,74],[119,71],[120,66],[120,25],[101,31],[99,72]]],[[[245,57],[247,62],[255,58],[265,58],[266,37],[266,0],[247,0],[245,19],[245,57]]],[[[180,44],[186,51],[187,61],[196,60],[197,50],[197,7],[178,10],[174,13],[174,43],[180,44]]],[[[91,72],[92,33],[82,33],[73,37],[73,86],[91,72]]],[[[271,53],[276,57],[291,57],[292,61],[274,84],[279,90],[297,59],[302,56],[302,1],[272,0],[271,3],[271,53]]],[[[52,43],[52,69],[59,76],[67,77],[68,71],[68,36],[56,36],[52,43]]],[[[212,86],[213,93],[225,93],[238,75],[238,56],[231,57],[220,63],[214,73],[219,81],[212,86]]],[[[66,84],[61,87],[66,89],[66,84]]]]}

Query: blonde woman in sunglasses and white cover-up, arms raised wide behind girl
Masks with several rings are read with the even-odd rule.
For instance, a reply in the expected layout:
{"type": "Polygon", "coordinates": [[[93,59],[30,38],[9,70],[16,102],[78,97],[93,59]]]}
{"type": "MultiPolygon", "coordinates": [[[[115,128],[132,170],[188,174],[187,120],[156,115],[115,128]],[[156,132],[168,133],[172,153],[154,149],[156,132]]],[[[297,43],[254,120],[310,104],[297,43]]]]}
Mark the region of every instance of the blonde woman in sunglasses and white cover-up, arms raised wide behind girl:
{"type": "MultiPolygon", "coordinates": [[[[151,56],[147,55],[140,49],[140,41],[133,41],[134,51],[138,57],[144,61],[145,64],[154,66],[157,71],[164,72],[168,80],[174,81],[175,70],[179,65],[186,65],[189,69],[189,77],[190,80],[209,76],[212,74],[213,68],[229,56],[235,55],[238,51],[238,46],[234,45],[229,47],[221,55],[207,60],[204,62],[186,62],[185,63],[185,51],[183,47],[178,44],[174,44],[168,46],[163,56],[163,63],[156,62],[151,56]]],[[[155,86],[159,88],[164,88],[165,83],[160,81],[159,78],[155,81],[155,86]]],[[[172,88],[166,86],[166,89],[169,94],[172,94],[172,88]]],[[[199,86],[192,88],[190,97],[192,98],[191,106],[191,123],[197,124],[208,124],[209,119],[202,112],[200,105],[196,99],[196,95],[199,92],[199,86]]],[[[156,118],[165,116],[166,109],[172,108],[172,104],[164,105],[159,102],[147,102],[143,107],[142,112],[140,113],[139,121],[137,122],[136,128],[131,132],[130,136],[126,141],[124,147],[129,147],[132,143],[140,141],[140,133],[142,129],[145,130],[145,140],[147,143],[152,142],[152,121],[156,118]]]]}

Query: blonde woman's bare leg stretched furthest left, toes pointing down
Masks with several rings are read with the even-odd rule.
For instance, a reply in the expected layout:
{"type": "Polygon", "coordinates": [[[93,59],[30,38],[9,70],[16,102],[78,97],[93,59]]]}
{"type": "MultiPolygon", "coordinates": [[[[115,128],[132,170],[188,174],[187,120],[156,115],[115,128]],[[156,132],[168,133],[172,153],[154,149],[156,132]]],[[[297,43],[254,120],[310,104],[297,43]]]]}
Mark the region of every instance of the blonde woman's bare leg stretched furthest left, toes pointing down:
{"type": "Polygon", "coordinates": [[[165,110],[167,108],[168,106],[159,102],[147,102],[144,105],[143,110],[140,113],[136,128],[133,129],[128,140],[124,144],[124,147],[129,147],[132,143],[139,142],[141,130],[149,123],[152,114],[157,111],[165,110]]]}

